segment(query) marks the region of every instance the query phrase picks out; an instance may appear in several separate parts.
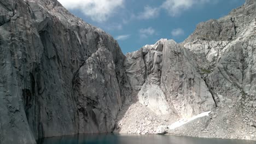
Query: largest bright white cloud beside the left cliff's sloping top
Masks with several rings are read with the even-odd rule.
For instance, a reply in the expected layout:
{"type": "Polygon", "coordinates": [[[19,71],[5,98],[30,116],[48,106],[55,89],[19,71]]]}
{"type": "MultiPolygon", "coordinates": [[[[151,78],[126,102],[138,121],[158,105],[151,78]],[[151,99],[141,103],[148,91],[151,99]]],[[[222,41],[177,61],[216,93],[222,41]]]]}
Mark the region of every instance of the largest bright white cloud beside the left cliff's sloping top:
{"type": "Polygon", "coordinates": [[[58,0],[67,9],[78,9],[93,21],[104,22],[124,7],[125,0],[58,0]]]}

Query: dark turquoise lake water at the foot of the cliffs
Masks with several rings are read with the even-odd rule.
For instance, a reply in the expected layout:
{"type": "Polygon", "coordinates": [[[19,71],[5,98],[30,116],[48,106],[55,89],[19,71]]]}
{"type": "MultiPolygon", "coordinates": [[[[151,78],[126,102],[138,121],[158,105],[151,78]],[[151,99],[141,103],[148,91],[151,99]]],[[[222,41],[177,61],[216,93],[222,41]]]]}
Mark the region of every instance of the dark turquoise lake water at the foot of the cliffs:
{"type": "Polygon", "coordinates": [[[74,135],[50,137],[41,144],[254,144],[256,141],[203,139],[198,137],[168,136],[168,135],[74,135]]]}

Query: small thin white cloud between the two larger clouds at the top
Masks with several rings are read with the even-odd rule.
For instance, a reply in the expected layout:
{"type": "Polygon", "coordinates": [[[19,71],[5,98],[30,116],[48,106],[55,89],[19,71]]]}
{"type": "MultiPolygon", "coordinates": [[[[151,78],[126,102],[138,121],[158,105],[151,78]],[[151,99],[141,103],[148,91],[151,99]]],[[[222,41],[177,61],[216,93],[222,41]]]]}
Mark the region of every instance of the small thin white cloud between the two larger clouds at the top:
{"type": "Polygon", "coordinates": [[[138,19],[151,19],[159,15],[159,8],[152,8],[148,5],[144,7],[144,11],[138,15],[138,19]]]}

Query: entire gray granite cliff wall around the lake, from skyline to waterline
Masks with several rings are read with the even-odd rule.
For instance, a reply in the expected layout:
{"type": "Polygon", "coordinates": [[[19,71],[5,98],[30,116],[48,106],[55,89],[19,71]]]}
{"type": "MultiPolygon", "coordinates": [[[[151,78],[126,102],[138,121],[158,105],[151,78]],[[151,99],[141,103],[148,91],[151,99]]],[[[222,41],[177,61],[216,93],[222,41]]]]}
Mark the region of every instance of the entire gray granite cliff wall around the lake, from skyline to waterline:
{"type": "Polygon", "coordinates": [[[255,17],[247,0],[181,44],[124,56],[56,0],[0,0],[0,143],[112,131],[256,140],[255,17]]]}

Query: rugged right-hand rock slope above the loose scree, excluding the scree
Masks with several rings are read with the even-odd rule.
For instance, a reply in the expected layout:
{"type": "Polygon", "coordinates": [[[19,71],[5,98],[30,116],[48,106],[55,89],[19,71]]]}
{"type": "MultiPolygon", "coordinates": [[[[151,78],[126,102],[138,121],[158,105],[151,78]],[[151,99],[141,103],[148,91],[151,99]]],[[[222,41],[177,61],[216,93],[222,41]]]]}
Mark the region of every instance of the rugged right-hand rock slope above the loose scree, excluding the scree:
{"type": "Polygon", "coordinates": [[[228,16],[214,22],[200,23],[185,40],[185,48],[199,59],[199,68],[206,73],[205,79],[217,105],[232,105],[243,96],[255,95],[252,76],[255,69],[255,16],[255,1],[246,1],[245,5],[232,10],[228,16]],[[221,27],[213,26],[214,23],[220,23],[221,27]],[[209,39],[199,39],[213,31],[220,33],[208,34],[211,35],[209,39]],[[223,35],[222,32],[227,33],[223,35]]]}

